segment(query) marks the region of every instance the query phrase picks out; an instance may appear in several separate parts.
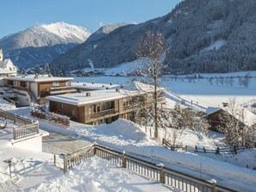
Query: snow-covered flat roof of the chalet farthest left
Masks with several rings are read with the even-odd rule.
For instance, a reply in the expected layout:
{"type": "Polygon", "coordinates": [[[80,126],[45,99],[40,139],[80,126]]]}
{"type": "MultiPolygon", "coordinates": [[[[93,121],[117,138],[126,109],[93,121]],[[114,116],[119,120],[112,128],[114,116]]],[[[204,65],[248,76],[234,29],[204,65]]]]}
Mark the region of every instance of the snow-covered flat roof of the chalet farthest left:
{"type": "Polygon", "coordinates": [[[14,81],[26,81],[26,82],[56,82],[56,81],[69,81],[73,80],[73,77],[48,77],[47,75],[38,75],[38,78],[34,78],[34,75],[28,75],[25,77],[16,76],[16,77],[4,77],[7,80],[14,81]]]}

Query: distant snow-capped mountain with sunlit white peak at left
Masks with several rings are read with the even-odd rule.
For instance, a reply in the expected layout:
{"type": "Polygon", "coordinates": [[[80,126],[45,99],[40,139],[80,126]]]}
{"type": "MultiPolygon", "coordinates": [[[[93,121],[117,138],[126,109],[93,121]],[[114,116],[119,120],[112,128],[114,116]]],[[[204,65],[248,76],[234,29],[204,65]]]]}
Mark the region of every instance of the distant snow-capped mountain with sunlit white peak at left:
{"type": "Polygon", "coordinates": [[[5,58],[22,66],[45,64],[84,42],[91,32],[65,22],[42,24],[3,37],[0,46],[5,58]]]}

